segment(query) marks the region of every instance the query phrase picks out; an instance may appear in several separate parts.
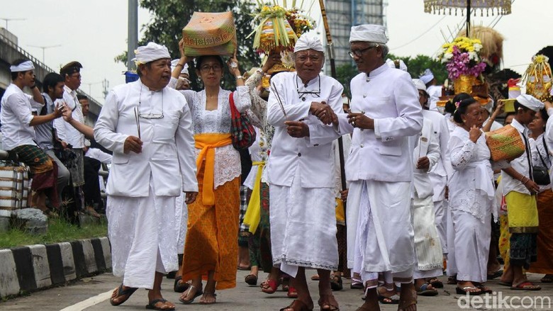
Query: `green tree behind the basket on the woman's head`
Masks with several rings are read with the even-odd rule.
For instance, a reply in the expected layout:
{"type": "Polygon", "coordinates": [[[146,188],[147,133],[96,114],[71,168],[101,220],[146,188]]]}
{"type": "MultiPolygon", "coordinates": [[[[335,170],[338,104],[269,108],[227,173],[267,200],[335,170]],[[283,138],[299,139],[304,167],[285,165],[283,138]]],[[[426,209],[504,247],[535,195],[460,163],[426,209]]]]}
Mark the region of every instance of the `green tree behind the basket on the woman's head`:
{"type": "MultiPolygon", "coordinates": [[[[194,11],[225,12],[233,11],[236,36],[238,39],[238,60],[240,70],[247,71],[251,67],[259,66],[260,58],[252,48],[253,38],[246,38],[252,32],[250,15],[255,9],[252,1],[228,0],[140,0],[140,6],[152,13],[152,20],[143,26],[144,37],[138,45],[145,45],[150,41],[165,45],[173,58],[179,57],[179,40],[182,38],[182,28],[190,21],[194,11]]],[[[127,62],[127,52],[116,57],[118,62],[127,62]]],[[[201,89],[201,84],[194,70],[194,64],[189,64],[192,89],[201,89]]],[[[233,89],[235,79],[228,71],[223,77],[223,87],[233,89]]]]}

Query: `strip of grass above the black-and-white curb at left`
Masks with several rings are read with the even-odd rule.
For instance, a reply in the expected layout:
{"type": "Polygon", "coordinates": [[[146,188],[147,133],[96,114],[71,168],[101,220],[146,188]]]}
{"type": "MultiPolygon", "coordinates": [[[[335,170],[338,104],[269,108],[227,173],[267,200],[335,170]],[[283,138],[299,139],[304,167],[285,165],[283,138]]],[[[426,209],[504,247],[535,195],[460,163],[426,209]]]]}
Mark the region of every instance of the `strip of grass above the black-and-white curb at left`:
{"type": "Polygon", "coordinates": [[[106,237],[108,224],[105,219],[99,224],[72,225],[62,218],[50,218],[48,220],[48,232],[45,234],[30,234],[24,230],[11,229],[0,233],[0,249],[9,247],[21,247],[32,244],[52,244],[69,242],[77,239],[91,239],[93,237],[106,237]]]}

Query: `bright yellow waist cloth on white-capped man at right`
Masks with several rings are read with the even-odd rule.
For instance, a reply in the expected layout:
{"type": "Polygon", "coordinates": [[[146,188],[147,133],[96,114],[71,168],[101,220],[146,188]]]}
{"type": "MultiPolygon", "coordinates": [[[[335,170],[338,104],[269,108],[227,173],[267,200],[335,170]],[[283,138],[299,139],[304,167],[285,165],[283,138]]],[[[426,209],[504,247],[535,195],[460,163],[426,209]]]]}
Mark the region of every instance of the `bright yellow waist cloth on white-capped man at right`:
{"type": "Polygon", "coordinates": [[[537,233],[538,217],[536,196],[510,191],[505,196],[509,231],[517,233],[537,233]]]}

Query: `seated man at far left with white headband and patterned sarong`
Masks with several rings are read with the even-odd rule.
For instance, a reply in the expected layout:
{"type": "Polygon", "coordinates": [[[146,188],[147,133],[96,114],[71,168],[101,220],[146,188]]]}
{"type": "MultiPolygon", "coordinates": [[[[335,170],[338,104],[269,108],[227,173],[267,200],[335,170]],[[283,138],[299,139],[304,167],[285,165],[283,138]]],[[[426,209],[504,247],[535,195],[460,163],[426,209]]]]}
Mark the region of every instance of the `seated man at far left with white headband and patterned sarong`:
{"type": "Polygon", "coordinates": [[[40,147],[36,145],[33,126],[50,122],[62,116],[63,106],[56,106],[48,115],[33,115],[33,107],[42,108],[44,98],[35,84],[35,66],[30,60],[16,60],[10,67],[11,84],[4,92],[0,101],[0,123],[2,124],[2,145],[5,150],[12,150],[18,159],[30,166],[33,174],[31,190],[35,196],[31,207],[48,213],[46,196],[57,208],[56,174],[54,164],[40,147]],[[33,96],[23,93],[25,87],[30,88],[33,96]]]}

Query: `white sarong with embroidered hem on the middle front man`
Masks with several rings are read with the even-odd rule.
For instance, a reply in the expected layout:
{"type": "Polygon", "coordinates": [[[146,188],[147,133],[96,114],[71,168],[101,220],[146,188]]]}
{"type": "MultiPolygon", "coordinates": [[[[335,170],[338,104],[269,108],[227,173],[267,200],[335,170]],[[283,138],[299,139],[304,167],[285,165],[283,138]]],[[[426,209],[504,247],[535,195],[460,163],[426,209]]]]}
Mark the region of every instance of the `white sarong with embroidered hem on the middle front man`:
{"type": "Polygon", "coordinates": [[[302,188],[299,170],[290,187],[269,186],[274,266],[295,277],[298,266],[338,266],[333,188],[302,188]]]}

